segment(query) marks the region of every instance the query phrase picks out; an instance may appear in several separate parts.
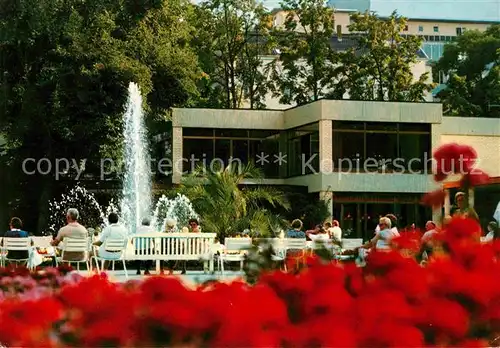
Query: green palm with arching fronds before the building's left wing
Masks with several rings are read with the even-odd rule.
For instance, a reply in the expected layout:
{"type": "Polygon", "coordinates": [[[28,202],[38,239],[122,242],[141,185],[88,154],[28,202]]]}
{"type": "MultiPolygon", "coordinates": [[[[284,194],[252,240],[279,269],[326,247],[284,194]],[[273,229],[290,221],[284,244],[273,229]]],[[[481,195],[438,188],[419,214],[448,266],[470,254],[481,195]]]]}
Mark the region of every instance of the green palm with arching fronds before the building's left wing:
{"type": "Polygon", "coordinates": [[[282,228],[285,221],[263,206],[290,206],[283,192],[275,188],[245,186],[247,180],[258,182],[261,178],[260,170],[253,164],[230,164],[213,171],[200,167],[185,178],[179,190],[189,197],[201,216],[203,231],[216,232],[221,239],[244,229],[269,236],[282,228]]]}

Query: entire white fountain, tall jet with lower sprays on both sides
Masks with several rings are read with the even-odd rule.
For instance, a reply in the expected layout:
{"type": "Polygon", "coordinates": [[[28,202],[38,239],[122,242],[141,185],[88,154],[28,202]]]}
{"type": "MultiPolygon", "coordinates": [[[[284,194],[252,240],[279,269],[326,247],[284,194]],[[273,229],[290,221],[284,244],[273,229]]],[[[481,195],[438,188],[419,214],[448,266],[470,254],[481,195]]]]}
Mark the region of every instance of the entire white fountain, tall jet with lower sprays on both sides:
{"type": "MultiPolygon", "coordinates": [[[[130,83],[128,100],[123,117],[123,161],[124,174],[122,180],[122,197],[119,204],[113,200],[107,207],[100,207],[85,188],[76,186],[59,200],[49,203],[51,217],[48,233],[55,233],[64,226],[66,211],[77,208],[80,211],[81,223],[85,227],[105,227],[108,215],[118,213],[121,222],[129,233],[135,233],[144,217],[151,216],[151,168],[149,161],[149,144],[142,112],[142,97],[139,87],[130,83]]],[[[174,199],[165,195],[158,200],[153,213],[152,226],[157,231],[164,231],[167,219],[177,221],[178,229],[186,226],[189,219],[198,218],[189,199],[177,194],[174,199]]]]}

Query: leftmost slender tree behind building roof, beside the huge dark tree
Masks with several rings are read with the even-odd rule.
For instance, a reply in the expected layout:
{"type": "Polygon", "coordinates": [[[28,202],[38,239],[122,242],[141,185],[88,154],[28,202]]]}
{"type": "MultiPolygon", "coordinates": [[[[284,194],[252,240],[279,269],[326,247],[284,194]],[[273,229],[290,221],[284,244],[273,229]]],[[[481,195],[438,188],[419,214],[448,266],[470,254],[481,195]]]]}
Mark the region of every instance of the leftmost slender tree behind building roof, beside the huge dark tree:
{"type": "Polygon", "coordinates": [[[260,55],[268,44],[266,12],[255,0],[210,0],[194,6],[193,35],[204,71],[200,106],[263,108],[267,78],[260,55]]]}

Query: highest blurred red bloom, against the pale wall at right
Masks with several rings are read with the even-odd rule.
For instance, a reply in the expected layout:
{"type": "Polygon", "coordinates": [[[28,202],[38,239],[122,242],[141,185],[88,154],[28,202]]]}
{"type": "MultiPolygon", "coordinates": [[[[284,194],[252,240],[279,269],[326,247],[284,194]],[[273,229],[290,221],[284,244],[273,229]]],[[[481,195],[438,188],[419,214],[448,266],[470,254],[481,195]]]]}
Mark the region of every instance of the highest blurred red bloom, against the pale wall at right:
{"type": "Polygon", "coordinates": [[[450,143],[440,146],[433,157],[438,180],[451,174],[469,173],[476,163],[477,153],[471,146],[450,143]]]}

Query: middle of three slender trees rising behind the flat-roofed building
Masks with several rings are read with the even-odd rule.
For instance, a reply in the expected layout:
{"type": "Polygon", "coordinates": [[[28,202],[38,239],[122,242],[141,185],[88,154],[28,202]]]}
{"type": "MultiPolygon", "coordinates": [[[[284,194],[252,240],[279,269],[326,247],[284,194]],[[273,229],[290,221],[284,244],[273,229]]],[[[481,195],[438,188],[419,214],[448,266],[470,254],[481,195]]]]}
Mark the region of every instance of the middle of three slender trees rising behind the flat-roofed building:
{"type": "Polygon", "coordinates": [[[285,0],[282,8],[284,27],[274,32],[281,53],[269,66],[273,92],[282,104],[301,105],[325,96],[325,78],[335,62],[333,9],[324,0],[285,0]]]}

